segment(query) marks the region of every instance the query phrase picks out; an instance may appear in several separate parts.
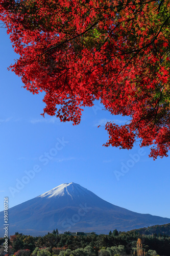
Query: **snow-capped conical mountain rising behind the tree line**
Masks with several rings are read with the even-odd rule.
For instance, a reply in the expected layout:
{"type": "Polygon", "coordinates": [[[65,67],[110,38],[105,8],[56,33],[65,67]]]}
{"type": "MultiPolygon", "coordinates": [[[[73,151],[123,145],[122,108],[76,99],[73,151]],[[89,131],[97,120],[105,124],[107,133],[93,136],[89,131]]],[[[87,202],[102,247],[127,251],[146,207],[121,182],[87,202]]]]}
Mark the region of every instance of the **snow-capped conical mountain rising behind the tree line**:
{"type": "MultiPolygon", "coordinates": [[[[8,210],[9,234],[22,232],[43,235],[58,228],[59,232],[84,231],[108,233],[128,231],[170,223],[170,219],[138,214],[106,202],[76,183],[64,183],[29,201],[8,210]]],[[[4,211],[0,212],[4,236],[4,211]]]]}

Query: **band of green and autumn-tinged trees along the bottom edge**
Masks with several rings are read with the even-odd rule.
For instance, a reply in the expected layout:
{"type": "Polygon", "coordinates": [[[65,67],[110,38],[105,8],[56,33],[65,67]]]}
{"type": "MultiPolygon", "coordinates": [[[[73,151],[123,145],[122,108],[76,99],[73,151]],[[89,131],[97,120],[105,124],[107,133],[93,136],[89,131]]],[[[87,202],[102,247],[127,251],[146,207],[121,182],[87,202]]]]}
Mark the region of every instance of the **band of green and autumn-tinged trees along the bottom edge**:
{"type": "MultiPolygon", "coordinates": [[[[0,239],[2,244],[4,239],[0,239]]],[[[9,255],[16,256],[170,256],[170,237],[165,234],[140,234],[137,231],[118,232],[109,234],[92,234],[91,236],[70,236],[58,233],[45,234],[42,237],[28,236],[16,232],[9,238],[9,255]]],[[[0,255],[3,256],[3,245],[0,255]]]]}

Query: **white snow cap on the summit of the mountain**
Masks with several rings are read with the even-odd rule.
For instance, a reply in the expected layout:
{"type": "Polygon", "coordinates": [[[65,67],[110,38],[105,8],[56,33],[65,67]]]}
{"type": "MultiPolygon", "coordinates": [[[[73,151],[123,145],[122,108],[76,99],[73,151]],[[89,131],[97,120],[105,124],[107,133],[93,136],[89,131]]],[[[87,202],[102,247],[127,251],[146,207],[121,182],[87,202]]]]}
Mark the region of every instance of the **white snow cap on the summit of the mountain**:
{"type": "Polygon", "coordinates": [[[79,196],[80,194],[89,194],[89,190],[80,186],[79,184],[76,184],[74,182],[71,183],[63,183],[47,192],[44,194],[40,195],[39,197],[47,197],[47,198],[52,198],[52,197],[62,197],[62,196],[70,196],[71,199],[74,196],[79,196]]]}

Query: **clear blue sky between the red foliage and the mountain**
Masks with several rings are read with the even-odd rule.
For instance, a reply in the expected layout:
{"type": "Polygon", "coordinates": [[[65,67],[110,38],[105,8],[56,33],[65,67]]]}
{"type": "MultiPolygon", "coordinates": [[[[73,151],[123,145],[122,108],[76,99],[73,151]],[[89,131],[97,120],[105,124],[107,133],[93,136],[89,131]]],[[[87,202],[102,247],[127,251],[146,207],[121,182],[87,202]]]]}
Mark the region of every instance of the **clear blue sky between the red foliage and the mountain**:
{"type": "Polygon", "coordinates": [[[21,88],[21,79],[7,70],[17,55],[6,29],[0,34],[0,211],[4,197],[13,207],[75,182],[112,204],[170,218],[169,158],[153,161],[149,148],[140,151],[139,145],[131,151],[102,146],[108,135],[98,125],[127,119],[111,116],[98,101],[84,110],[77,126],[44,119],[43,94],[21,88]]]}

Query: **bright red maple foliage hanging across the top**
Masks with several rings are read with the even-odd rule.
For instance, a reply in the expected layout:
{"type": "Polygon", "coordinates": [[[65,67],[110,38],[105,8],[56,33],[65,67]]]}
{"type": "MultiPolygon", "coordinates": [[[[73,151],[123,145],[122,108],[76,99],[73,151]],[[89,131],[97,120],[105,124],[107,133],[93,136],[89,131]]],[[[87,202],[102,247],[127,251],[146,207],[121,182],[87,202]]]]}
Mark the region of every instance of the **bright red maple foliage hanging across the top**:
{"type": "Polygon", "coordinates": [[[82,107],[100,100],[113,115],[105,146],[167,156],[169,1],[2,0],[0,18],[20,55],[10,69],[24,88],[45,92],[44,113],[79,124],[82,107]]]}

